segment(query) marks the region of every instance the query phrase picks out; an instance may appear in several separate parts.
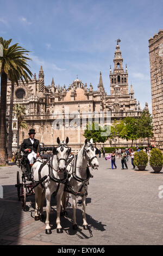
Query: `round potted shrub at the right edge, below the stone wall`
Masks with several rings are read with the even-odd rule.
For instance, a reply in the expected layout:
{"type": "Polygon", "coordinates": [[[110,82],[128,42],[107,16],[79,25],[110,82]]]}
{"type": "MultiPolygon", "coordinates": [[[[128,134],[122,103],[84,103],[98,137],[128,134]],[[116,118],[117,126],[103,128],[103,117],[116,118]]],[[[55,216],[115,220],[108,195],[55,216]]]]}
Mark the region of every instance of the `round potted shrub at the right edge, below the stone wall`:
{"type": "Polygon", "coordinates": [[[160,149],[152,149],[149,157],[149,164],[155,173],[159,173],[163,165],[163,156],[160,149]]]}

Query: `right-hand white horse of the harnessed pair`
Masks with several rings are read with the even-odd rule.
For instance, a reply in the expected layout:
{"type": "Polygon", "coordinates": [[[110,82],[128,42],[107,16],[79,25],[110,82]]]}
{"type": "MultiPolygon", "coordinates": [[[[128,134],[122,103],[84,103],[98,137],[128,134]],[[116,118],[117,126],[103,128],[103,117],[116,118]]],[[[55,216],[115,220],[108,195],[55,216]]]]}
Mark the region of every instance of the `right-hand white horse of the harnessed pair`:
{"type": "MultiPolygon", "coordinates": [[[[78,155],[74,157],[73,166],[70,170],[70,166],[67,169],[70,170],[71,177],[69,179],[68,184],[71,186],[74,192],[79,192],[83,194],[82,197],[82,206],[83,206],[83,228],[88,229],[88,225],[86,222],[85,208],[86,208],[86,196],[87,196],[87,185],[89,184],[90,172],[88,167],[91,166],[93,169],[98,169],[99,163],[96,157],[96,148],[93,147],[93,140],[90,139],[90,142],[86,139],[82,149],[79,151],[78,155]]],[[[64,195],[66,198],[66,194],[64,195]]],[[[73,201],[73,229],[78,229],[78,225],[76,222],[76,196],[72,194],[73,201]]],[[[64,211],[66,205],[64,203],[64,211]]]]}

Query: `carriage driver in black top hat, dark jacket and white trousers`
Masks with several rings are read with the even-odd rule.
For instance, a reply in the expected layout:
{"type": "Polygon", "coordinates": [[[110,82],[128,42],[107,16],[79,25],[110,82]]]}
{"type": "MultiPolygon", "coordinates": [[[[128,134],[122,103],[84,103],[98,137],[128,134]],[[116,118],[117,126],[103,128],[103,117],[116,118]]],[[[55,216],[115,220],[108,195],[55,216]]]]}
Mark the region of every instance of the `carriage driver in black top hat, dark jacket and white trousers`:
{"type": "Polygon", "coordinates": [[[29,130],[29,138],[24,139],[21,144],[21,151],[24,153],[26,159],[28,173],[31,173],[31,167],[33,166],[33,158],[40,156],[40,144],[38,139],[35,139],[35,130],[29,130]]]}

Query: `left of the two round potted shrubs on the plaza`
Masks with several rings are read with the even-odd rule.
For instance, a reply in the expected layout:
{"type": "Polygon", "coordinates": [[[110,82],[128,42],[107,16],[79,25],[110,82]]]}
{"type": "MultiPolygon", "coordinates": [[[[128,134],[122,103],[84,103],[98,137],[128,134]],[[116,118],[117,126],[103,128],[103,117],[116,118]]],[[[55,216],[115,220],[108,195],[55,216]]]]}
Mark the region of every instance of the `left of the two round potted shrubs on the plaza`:
{"type": "Polygon", "coordinates": [[[135,152],[134,154],[134,165],[137,166],[139,170],[145,170],[148,163],[148,154],[143,150],[135,152]]]}

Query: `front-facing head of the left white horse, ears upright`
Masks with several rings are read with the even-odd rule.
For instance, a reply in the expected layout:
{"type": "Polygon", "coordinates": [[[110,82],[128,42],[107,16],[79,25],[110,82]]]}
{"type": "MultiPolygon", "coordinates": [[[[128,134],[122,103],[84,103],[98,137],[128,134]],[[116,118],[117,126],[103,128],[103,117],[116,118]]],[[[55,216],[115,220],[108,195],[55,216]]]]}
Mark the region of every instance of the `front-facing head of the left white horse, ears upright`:
{"type": "Polygon", "coordinates": [[[67,167],[67,159],[71,153],[71,148],[68,147],[69,139],[66,138],[66,142],[60,142],[59,137],[57,138],[58,146],[53,149],[53,155],[57,155],[58,169],[59,172],[65,172],[67,167]]]}

